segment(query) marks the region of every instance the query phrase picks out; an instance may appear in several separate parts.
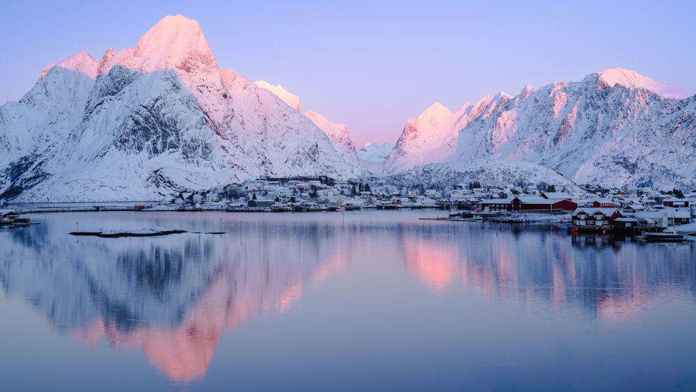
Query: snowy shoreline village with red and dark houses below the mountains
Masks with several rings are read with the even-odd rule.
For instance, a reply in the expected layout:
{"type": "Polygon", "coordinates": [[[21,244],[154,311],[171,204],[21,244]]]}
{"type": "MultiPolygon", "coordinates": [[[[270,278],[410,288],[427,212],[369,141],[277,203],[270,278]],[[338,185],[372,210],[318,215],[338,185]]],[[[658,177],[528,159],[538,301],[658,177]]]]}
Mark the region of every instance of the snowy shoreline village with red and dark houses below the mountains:
{"type": "MultiPolygon", "coordinates": [[[[619,190],[590,186],[585,190],[585,197],[574,198],[567,192],[556,191],[553,185],[546,185],[544,190],[539,186],[512,185],[504,189],[485,188],[479,182],[459,184],[452,189],[395,186],[372,189],[367,182],[331,178],[251,180],[209,191],[181,193],[159,203],[93,203],[60,210],[310,212],[432,208],[446,211],[438,219],[511,223],[550,220],[568,224],[573,233],[629,234],[659,233],[672,226],[690,225],[696,214],[696,196],[685,197],[677,190],[664,193],[649,188],[619,190]]],[[[5,205],[0,210],[2,223],[13,223],[17,210],[5,205]]],[[[56,211],[56,207],[29,208],[29,212],[51,211],[56,211]]],[[[26,224],[24,220],[19,222],[26,224]]]]}

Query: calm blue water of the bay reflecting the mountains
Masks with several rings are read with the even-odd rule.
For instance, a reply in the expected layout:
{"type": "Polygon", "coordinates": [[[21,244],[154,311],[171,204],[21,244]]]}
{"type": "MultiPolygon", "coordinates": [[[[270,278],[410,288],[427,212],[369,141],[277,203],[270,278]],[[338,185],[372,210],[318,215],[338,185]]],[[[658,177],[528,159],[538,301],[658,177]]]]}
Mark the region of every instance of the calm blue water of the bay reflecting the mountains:
{"type": "Polygon", "coordinates": [[[32,215],[0,389],[696,390],[696,246],[443,214],[32,215]],[[189,233],[68,235],[151,226],[189,233]]]}

